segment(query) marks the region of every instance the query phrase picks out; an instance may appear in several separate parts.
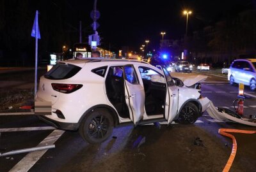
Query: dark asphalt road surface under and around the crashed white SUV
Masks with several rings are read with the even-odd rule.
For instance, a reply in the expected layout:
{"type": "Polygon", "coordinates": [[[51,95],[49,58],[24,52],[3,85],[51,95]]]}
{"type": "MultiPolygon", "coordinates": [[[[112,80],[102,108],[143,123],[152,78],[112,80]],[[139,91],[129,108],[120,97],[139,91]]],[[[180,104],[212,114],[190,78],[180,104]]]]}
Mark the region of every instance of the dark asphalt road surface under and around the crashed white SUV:
{"type": "MultiPolygon", "coordinates": [[[[196,75],[185,73],[184,75],[196,75]]],[[[179,73],[176,75],[180,75],[179,73]]],[[[202,82],[202,95],[215,106],[233,110],[238,87],[227,78],[209,75],[202,82]]],[[[255,114],[255,92],[244,101],[244,115],[255,114]]],[[[171,124],[117,127],[109,140],[90,145],[77,132],[52,129],[32,115],[0,116],[0,152],[38,145],[40,150],[0,157],[0,171],[222,171],[232,150],[232,140],[218,129],[255,130],[234,122],[220,122],[204,115],[193,125],[171,124]],[[24,130],[24,131],[19,131],[24,130]]],[[[236,158],[230,171],[255,171],[256,134],[234,134],[236,158]]]]}

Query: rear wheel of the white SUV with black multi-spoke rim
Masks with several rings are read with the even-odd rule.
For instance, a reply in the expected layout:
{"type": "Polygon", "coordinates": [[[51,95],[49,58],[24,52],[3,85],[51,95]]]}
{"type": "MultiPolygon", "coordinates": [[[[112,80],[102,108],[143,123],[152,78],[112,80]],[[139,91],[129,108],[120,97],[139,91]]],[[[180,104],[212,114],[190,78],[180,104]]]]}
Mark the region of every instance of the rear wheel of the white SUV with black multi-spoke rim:
{"type": "Polygon", "coordinates": [[[113,117],[104,109],[93,110],[86,115],[79,126],[79,133],[83,140],[88,143],[102,143],[111,136],[113,132],[113,117]]]}

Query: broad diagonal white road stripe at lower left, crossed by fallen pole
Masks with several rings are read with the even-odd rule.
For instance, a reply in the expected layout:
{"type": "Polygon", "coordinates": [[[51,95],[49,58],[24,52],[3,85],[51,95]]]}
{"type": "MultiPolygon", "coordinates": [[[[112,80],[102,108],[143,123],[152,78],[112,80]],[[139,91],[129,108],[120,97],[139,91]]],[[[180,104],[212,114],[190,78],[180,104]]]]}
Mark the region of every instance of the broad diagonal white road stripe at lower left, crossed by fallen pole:
{"type": "MultiPolygon", "coordinates": [[[[41,143],[39,143],[38,147],[52,145],[55,141],[60,138],[60,136],[65,133],[62,130],[54,130],[52,131],[47,138],[45,138],[41,143]]],[[[35,152],[29,152],[23,159],[21,159],[9,172],[27,172],[34,164],[45,154],[47,150],[40,150],[35,152]]]]}

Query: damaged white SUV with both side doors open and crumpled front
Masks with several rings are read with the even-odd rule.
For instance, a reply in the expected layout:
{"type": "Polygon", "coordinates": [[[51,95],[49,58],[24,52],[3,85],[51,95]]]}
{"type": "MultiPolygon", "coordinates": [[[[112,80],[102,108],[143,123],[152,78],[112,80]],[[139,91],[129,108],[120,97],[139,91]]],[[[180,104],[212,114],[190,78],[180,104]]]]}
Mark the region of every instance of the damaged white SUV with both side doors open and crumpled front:
{"type": "Polygon", "coordinates": [[[173,120],[193,124],[205,110],[200,89],[172,78],[161,66],[121,59],[58,62],[40,78],[36,101],[52,104],[40,119],[60,129],[77,130],[100,143],[119,124],[173,120]]]}

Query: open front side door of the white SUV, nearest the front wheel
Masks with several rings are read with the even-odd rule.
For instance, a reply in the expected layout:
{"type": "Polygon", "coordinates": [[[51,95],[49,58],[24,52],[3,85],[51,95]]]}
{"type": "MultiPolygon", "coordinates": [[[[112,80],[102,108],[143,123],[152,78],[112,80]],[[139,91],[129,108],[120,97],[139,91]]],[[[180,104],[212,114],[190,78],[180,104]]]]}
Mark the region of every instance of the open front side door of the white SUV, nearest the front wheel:
{"type": "Polygon", "coordinates": [[[174,84],[172,76],[166,68],[162,68],[162,66],[157,66],[157,68],[163,71],[164,79],[166,80],[167,89],[164,114],[168,124],[170,124],[178,113],[179,88],[174,84]]]}

